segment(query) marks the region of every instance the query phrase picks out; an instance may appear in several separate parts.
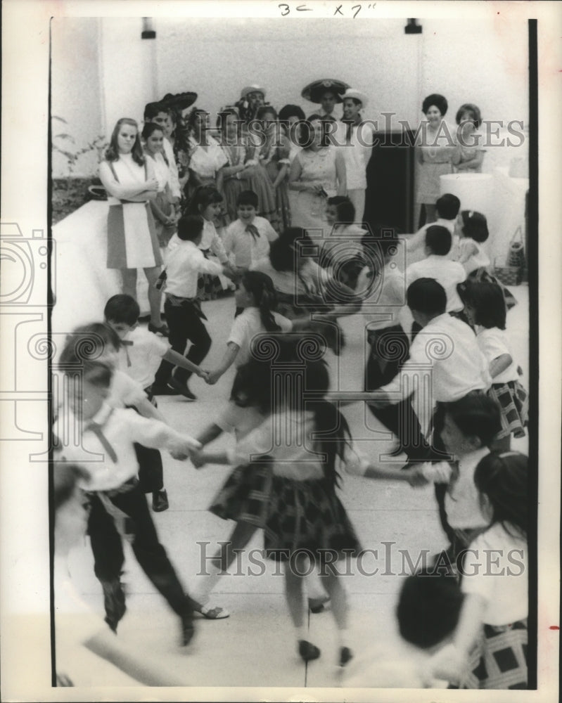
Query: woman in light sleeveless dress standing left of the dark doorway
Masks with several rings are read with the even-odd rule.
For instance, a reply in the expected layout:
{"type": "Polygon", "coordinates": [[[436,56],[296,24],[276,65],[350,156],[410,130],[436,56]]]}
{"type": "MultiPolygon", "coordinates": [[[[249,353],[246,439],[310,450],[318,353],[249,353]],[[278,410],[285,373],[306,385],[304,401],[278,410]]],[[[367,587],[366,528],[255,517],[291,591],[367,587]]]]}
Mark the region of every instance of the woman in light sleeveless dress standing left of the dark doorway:
{"type": "Polygon", "coordinates": [[[326,200],[345,195],[345,162],[340,150],[328,146],[324,122],[311,115],[302,127],[305,142],[290,166],[289,202],[291,224],[306,230],[323,230],[326,200]]]}

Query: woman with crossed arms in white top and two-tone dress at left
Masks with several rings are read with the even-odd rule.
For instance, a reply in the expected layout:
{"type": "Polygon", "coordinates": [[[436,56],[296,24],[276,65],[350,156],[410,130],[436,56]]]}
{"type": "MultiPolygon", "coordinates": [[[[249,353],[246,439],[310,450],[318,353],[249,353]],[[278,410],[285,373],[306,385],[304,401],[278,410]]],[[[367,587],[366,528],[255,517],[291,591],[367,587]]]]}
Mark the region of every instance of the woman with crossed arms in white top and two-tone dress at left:
{"type": "Polygon", "coordinates": [[[155,287],[162,256],[150,201],[156,198],[158,180],[151,160],[143,155],[139,127],[129,117],[117,120],[106,157],[99,167],[108,193],[108,269],[120,269],[122,290],[136,299],[136,271],[148,280],[151,332],[167,333],[160,320],[161,293],[155,287]]]}

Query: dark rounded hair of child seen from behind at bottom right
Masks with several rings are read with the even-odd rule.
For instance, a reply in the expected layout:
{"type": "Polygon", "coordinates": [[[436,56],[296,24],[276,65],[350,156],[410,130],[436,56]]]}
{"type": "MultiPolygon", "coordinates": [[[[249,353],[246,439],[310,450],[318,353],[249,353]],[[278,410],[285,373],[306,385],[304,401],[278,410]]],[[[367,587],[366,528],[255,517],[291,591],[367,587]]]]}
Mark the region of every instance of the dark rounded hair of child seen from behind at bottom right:
{"type": "Polygon", "coordinates": [[[463,594],[456,576],[422,569],[402,584],[396,609],[400,634],[428,649],[452,634],[459,622],[463,594]]]}

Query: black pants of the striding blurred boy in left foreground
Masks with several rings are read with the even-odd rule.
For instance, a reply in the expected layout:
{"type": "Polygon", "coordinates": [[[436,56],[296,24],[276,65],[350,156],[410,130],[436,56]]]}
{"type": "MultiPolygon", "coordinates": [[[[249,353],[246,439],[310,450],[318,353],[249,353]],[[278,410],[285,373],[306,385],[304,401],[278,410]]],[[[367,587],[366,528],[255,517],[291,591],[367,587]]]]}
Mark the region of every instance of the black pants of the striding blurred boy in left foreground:
{"type": "MultiPolygon", "coordinates": [[[[113,517],[103,507],[96,494],[91,494],[88,521],[91,550],[94,553],[94,573],[100,581],[117,581],[124,564],[123,545],[113,517]]],[[[179,616],[189,613],[189,600],[184,593],[148,510],[148,503],[138,485],[130,491],[116,494],[110,501],[131,518],[134,531],[132,548],[137,562],[153,585],[158,588],[172,610],[179,616]]]]}

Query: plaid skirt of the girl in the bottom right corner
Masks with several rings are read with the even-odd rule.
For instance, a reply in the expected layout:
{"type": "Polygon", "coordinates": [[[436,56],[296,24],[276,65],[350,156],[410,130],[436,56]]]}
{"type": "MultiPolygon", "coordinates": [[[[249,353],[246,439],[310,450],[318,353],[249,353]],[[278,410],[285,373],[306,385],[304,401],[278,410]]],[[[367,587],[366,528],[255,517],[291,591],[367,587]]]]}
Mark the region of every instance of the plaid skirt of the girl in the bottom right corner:
{"type": "Polygon", "coordinates": [[[527,619],[485,625],[461,688],[527,688],[527,619]]]}

